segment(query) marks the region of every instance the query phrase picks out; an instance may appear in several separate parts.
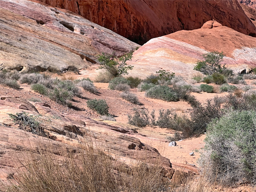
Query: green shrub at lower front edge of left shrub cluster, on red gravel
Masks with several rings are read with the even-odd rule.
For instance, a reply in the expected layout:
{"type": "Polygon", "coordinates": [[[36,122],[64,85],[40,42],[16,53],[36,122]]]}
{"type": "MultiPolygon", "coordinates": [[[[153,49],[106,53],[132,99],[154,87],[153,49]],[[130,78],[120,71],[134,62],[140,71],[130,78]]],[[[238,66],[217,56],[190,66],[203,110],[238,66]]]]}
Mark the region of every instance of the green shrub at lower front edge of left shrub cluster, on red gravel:
{"type": "Polygon", "coordinates": [[[72,100],[73,96],[74,94],[72,91],[61,88],[54,88],[49,93],[49,98],[51,100],[63,105],[70,105],[68,101],[72,100]]]}

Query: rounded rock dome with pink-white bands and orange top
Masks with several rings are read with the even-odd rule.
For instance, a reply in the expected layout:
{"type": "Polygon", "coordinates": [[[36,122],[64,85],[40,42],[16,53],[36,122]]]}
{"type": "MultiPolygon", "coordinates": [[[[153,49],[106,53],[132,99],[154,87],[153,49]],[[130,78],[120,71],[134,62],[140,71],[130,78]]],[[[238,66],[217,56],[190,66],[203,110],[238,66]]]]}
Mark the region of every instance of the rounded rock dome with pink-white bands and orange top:
{"type": "Polygon", "coordinates": [[[134,53],[133,76],[148,76],[164,69],[191,79],[202,54],[224,52],[224,63],[236,72],[256,67],[256,39],[239,33],[216,21],[208,21],[201,29],[179,31],[144,44],[134,53]]]}

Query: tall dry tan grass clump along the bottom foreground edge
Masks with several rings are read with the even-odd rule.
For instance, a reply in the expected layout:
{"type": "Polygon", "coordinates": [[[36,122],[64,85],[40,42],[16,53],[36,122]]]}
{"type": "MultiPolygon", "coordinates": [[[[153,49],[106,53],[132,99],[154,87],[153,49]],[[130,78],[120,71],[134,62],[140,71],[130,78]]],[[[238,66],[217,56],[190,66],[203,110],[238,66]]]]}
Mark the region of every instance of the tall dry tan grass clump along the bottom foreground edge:
{"type": "MultiPolygon", "coordinates": [[[[26,151],[21,169],[4,192],[161,192],[169,191],[163,167],[138,163],[127,166],[105,154],[101,144],[82,139],[79,148],[37,143],[26,151]]],[[[106,151],[107,152],[107,151],[106,151]]],[[[108,153],[108,152],[107,152],[108,153]]]]}

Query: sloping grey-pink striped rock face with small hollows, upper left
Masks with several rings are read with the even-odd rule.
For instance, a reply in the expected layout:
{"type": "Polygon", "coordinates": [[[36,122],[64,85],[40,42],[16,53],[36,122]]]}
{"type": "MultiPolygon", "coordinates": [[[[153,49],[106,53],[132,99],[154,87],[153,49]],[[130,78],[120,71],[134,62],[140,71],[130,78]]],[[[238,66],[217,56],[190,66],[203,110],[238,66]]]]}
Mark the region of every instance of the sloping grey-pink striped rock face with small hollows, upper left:
{"type": "Polygon", "coordinates": [[[137,46],[84,17],[39,1],[0,1],[1,69],[85,68],[102,52],[122,55],[137,46]]]}

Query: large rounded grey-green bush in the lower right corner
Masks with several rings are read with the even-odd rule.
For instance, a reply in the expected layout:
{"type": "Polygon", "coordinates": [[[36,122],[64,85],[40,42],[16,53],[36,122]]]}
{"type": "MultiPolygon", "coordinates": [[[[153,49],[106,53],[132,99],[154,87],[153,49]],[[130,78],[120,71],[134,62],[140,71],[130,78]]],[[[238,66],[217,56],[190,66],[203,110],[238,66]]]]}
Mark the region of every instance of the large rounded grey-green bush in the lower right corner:
{"type": "Polygon", "coordinates": [[[232,111],[208,125],[199,163],[209,181],[256,184],[255,122],[255,111],[232,111]]]}

